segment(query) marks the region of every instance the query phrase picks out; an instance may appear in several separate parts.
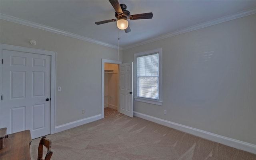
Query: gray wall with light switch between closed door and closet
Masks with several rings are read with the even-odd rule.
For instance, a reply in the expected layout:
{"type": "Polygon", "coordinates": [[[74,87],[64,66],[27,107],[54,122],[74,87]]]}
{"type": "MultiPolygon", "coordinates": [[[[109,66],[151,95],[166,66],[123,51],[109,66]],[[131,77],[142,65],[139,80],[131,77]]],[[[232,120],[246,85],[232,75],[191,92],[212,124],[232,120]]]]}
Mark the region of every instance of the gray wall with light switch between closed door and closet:
{"type": "Polygon", "coordinates": [[[57,52],[56,126],[101,114],[101,59],[118,60],[117,49],[5,20],[0,27],[2,44],[57,52]]]}

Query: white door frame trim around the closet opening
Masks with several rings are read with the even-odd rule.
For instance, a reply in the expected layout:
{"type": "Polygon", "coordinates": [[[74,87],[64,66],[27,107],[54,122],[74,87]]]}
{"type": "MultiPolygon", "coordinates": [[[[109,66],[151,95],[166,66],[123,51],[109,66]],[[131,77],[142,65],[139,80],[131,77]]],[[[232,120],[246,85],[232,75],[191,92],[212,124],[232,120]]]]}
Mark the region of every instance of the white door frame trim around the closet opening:
{"type": "Polygon", "coordinates": [[[116,60],[106,60],[102,59],[101,60],[101,118],[104,118],[104,68],[105,68],[105,63],[111,63],[111,64],[122,64],[123,62],[121,61],[116,61],[116,60]]]}

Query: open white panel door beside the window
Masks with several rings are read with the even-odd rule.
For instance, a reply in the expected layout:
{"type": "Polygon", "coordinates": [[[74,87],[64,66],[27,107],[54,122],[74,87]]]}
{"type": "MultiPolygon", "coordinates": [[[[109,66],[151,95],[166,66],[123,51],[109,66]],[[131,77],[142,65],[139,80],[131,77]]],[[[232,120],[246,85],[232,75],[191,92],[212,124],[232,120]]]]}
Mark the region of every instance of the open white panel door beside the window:
{"type": "Polygon", "coordinates": [[[133,63],[120,64],[119,112],[133,117],[133,63]]]}

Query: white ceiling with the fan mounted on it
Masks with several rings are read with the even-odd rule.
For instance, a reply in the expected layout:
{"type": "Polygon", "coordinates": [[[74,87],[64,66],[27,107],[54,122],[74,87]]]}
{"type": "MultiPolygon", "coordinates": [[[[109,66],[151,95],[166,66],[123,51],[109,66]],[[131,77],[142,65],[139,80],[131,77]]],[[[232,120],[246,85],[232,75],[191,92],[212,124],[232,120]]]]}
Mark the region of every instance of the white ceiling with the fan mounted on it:
{"type": "Polygon", "coordinates": [[[129,33],[119,30],[116,22],[96,25],[98,21],[115,19],[115,10],[108,0],[0,0],[0,12],[1,19],[18,18],[17,22],[41,24],[59,33],[114,47],[118,45],[119,34],[122,49],[256,13],[256,0],[119,0],[119,3],[126,4],[131,14],[152,12],[153,18],[128,20],[132,30],[129,33]]]}

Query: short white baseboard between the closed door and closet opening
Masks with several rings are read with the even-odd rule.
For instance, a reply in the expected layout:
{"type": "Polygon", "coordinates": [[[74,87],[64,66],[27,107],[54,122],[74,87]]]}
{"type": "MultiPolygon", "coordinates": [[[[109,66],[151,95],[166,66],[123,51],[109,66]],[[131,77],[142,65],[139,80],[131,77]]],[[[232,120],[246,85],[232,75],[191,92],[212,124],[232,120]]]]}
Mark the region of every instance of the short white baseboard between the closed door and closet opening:
{"type": "Polygon", "coordinates": [[[74,121],[74,122],[62,124],[60,126],[55,127],[55,133],[58,133],[58,132],[61,132],[61,131],[64,131],[64,130],[68,130],[70,128],[74,128],[74,127],[77,127],[77,126],[81,126],[83,124],[90,123],[90,122],[93,122],[93,121],[96,121],[96,120],[99,120],[99,119],[101,119],[101,114],[98,114],[96,116],[91,116],[91,117],[88,117],[88,118],[84,118],[82,120],[77,120],[77,121],[74,121]]]}

